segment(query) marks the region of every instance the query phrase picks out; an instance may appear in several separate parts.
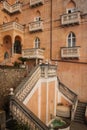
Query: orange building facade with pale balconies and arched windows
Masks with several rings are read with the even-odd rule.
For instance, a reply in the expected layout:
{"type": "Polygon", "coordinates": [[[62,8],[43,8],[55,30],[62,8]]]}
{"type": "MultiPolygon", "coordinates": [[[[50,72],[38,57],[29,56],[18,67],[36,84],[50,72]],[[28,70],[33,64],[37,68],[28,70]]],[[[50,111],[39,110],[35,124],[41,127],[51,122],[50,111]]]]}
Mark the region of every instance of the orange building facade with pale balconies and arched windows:
{"type": "Polygon", "coordinates": [[[57,62],[59,79],[87,102],[86,6],[85,0],[1,1],[0,63],[57,62]]]}

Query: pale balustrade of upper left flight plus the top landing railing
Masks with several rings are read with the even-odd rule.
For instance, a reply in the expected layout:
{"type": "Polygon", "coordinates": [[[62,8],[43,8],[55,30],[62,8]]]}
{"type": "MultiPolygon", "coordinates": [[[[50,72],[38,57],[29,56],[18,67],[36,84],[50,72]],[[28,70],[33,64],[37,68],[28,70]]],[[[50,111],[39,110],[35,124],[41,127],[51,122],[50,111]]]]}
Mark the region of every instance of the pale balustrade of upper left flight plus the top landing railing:
{"type": "Polygon", "coordinates": [[[20,101],[24,101],[41,77],[48,78],[53,76],[57,76],[56,66],[43,64],[40,66],[37,65],[26,77],[26,79],[24,79],[23,82],[21,82],[21,84],[17,87],[14,94],[20,101]]]}

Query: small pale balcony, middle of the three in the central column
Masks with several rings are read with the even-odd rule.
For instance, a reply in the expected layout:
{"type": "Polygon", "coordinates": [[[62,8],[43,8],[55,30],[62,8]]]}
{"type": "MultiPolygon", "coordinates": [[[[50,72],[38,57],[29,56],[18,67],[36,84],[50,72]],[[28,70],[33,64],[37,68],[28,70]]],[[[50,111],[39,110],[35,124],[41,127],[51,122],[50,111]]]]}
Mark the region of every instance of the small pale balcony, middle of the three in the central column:
{"type": "Polygon", "coordinates": [[[29,23],[29,31],[30,32],[43,31],[43,21],[35,21],[29,23]]]}

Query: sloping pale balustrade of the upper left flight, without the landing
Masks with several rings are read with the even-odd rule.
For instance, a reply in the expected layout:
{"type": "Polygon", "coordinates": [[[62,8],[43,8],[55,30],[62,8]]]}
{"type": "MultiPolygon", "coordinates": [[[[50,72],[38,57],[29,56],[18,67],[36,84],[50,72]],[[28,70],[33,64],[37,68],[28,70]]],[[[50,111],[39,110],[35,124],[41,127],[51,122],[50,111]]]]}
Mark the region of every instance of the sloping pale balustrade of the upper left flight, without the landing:
{"type": "Polygon", "coordinates": [[[15,96],[20,100],[24,101],[24,99],[27,97],[27,95],[30,93],[30,91],[35,86],[36,82],[41,77],[41,69],[40,66],[36,66],[30,74],[26,77],[23,82],[17,87],[15,90],[15,96]]]}

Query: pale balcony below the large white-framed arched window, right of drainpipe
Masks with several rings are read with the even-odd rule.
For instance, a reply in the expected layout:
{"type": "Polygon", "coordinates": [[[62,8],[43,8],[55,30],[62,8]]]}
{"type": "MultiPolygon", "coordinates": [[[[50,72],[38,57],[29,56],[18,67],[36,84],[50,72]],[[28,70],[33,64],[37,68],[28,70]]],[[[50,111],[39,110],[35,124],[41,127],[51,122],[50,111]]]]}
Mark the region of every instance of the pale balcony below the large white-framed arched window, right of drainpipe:
{"type": "Polygon", "coordinates": [[[79,58],[80,47],[61,47],[61,58],[79,58]]]}

